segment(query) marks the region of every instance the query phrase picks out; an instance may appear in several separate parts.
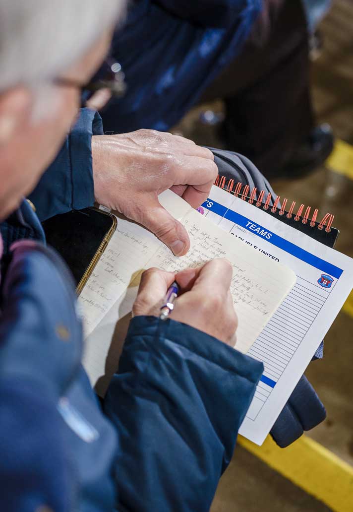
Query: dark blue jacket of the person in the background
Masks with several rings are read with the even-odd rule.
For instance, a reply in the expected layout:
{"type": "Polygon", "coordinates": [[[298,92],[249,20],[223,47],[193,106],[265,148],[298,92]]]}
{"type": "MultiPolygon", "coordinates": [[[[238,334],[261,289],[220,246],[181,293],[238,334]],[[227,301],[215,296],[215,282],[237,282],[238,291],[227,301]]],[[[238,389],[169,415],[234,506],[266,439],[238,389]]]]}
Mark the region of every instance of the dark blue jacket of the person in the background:
{"type": "Polygon", "coordinates": [[[241,51],[262,0],[135,0],[114,35],[126,75],[123,99],[102,112],[104,130],[168,131],[241,51]]]}

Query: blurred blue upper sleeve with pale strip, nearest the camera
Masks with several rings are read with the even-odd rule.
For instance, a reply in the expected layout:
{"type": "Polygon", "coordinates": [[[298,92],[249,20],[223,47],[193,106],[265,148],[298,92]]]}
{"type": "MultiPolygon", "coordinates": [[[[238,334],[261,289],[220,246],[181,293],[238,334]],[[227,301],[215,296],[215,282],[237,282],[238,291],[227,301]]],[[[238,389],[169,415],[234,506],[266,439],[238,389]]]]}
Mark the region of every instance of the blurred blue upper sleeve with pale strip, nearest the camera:
{"type": "Polygon", "coordinates": [[[0,509],[112,511],[113,426],[80,366],[82,326],[59,255],[12,246],[0,315],[0,509]]]}

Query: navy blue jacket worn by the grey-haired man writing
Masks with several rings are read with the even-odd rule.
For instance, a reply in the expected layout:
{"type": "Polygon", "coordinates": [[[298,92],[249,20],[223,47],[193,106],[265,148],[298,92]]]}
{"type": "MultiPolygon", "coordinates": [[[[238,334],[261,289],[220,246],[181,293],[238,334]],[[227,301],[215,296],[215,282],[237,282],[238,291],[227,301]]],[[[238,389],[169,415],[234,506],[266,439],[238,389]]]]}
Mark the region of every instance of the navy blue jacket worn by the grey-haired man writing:
{"type": "MultiPolygon", "coordinates": [[[[31,195],[41,219],[92,202],[80,184],[96,130],[83,111],[70,136],[81,131],[82,153],[67,160],[65,144],[31,195]]],[[[136,317],[103,413],[80,364],[70,272],[26,201],[0,228],[2,509],[209,510],[262,364],[184,324],[136,317]]]]}

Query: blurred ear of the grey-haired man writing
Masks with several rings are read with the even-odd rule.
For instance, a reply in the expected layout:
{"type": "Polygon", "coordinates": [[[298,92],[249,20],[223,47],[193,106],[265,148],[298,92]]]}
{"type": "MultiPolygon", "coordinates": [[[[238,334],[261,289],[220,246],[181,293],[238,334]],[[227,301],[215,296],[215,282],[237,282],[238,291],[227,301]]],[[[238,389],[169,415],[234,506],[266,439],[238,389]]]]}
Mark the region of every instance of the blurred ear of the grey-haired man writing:
{"type": "Polygon", "coordinates": [[[25,87],[16,87],[0,94],[0,145],[4,145],[29,120],[33,93],[25,87]]]}

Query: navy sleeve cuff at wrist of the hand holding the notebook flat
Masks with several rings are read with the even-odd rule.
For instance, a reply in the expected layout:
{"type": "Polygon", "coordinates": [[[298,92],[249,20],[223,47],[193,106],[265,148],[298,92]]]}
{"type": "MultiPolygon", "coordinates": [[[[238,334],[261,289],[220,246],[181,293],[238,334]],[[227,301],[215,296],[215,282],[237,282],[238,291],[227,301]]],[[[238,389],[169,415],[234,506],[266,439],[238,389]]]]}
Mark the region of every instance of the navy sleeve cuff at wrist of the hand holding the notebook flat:
{"type": "Polygon", "coordinates": [[[80,109],[78,120],[56,159],[29,196],[40,221],[93,205],[91,138],[102,133],[99,114],[80,109]]]}

